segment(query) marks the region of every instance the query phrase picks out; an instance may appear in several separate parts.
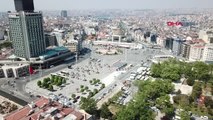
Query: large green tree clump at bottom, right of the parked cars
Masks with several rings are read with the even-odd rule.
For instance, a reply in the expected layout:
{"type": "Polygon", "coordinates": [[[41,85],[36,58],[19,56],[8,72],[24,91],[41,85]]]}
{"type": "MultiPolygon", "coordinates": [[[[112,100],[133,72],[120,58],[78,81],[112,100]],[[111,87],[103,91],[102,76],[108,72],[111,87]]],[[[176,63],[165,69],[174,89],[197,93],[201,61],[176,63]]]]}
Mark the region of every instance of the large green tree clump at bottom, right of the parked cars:
{"type": "Polygon", "coordinates": [[[123,110],[117,114],[117,120],[154,120],[151,107],[156,106],[167,116],[174,114],[174,107],[169,102],[168,94],[174,90],[171,81],[140,81],[139,92],[123,110]]]}

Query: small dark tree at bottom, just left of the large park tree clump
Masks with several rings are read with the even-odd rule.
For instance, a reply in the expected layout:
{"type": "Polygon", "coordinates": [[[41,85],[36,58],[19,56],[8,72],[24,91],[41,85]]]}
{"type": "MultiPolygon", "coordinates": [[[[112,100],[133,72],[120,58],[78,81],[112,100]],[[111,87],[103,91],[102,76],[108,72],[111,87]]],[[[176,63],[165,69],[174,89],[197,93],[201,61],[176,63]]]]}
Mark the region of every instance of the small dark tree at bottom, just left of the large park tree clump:
{"type": "Polygon", "coordinates": [[[111,119],[112,113],[110,112],[108,105],[104,103],[100,108],[100,116],[105,119],[111,119]]]}

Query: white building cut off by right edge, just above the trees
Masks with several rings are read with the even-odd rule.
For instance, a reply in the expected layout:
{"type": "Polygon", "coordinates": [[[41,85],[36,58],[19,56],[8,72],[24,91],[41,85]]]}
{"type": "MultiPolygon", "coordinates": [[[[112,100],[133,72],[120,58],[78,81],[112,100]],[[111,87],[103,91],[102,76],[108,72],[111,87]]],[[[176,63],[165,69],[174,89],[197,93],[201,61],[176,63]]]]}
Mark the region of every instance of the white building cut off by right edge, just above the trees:
{"type": "Polygon", "coordinates": [[[203,51],[203,61],[213,61],[213,44],[206,44],[203,51]]]}

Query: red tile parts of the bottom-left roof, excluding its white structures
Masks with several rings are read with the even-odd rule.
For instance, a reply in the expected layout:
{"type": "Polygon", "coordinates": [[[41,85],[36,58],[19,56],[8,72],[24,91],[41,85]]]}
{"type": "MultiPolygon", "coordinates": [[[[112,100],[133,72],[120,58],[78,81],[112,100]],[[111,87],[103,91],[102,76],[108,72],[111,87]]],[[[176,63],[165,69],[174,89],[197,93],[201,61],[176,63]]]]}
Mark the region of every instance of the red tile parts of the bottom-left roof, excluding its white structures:
{"type": "MultiPolygon", "coordinates": [[[[60,103],[58,102],[52,102],[49,104],[49,99],[45,97],[41,97],[38,100],[35,101],[36,107],[33,108],[34,112],[30,115],[28,113],[30,110],[32,110],[29,105],[25,106],[22,109],[19,109],[17,111],[14,111],[13,113],[10,113],[4,117],[4,120],[37,120],[39,115],[41,113],[45,113],[46,111],[56,108],[59,112],[56,114],[59,114],[64,118],[65,116],[69,114],[73,114],[77,117],[77,120],[82,120],[83,115],[82,113],[75,111],[73,108],[64,108],[60,103]],[[45,105],[45,106],[44,106],[45,105]]],[[[49,114],[49,113],[47,113],[49,114]]],[[[50,115],[51,117],[51,115],[50,115]]],[[[51,120],[50,117],[45,118],[45,120],[51,120]]]]}

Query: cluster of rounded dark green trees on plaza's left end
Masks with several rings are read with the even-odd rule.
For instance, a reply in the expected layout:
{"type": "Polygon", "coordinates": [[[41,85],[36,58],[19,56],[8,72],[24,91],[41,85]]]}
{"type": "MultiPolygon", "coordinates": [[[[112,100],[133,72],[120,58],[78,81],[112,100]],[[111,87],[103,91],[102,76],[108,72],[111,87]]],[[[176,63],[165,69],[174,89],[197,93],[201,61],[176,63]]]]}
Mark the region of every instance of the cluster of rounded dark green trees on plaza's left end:
{"type": "Polygon", "coordinates": [[[53,85],[56,85],[56,86],[61,86],[62,84],[65,84],[66,83],[66,80],[63,78],[63,77],[60,77],[60,76],[51,76],[50,77],[47,77],[47,78],[44,78],[43,81],[37,81],[37,85],[41,88],[44,88],[44,89],[48,89],[50,91],[53,91],[53,85]]]}

